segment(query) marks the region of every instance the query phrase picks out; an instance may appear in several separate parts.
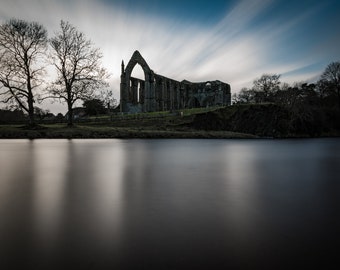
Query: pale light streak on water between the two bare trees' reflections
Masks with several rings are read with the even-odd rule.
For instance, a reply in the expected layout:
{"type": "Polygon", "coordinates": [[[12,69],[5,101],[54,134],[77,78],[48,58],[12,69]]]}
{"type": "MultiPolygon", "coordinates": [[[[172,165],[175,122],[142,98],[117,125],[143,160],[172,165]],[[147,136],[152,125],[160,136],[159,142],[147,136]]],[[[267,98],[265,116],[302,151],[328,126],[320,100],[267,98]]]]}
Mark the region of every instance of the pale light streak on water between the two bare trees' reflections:
{"type": "Polygon", "coordinates": [[[64,141],[31,141],[35,235],[46,249],[57,241],[65,201],[69,149],[64,141]]]}

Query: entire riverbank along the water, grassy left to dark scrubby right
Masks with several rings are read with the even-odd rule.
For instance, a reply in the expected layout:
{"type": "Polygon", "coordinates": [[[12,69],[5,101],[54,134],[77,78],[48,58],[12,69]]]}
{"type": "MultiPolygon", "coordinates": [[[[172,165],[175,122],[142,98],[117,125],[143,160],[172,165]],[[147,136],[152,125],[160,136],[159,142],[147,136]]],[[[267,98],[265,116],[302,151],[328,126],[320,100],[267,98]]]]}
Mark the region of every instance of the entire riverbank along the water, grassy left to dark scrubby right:
{"type": "Polygon", "coordinates": [[[184,112],[142,113],[66,123],[0,125],[0,138],[316,138],[340,137],[340,112],[294,113],[275,104],[251,104],[184,112]]]}

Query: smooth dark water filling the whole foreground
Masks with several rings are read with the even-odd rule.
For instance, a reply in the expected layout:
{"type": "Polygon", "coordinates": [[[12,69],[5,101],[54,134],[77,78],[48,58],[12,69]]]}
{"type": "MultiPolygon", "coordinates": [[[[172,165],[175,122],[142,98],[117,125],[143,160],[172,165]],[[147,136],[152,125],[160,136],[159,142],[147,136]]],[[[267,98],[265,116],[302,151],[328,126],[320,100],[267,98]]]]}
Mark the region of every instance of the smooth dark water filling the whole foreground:
{"type": "Polygon", "coordinates": [[[0,140],[0,269],[340,269],[339,219],[340,139],[0,140]]]}

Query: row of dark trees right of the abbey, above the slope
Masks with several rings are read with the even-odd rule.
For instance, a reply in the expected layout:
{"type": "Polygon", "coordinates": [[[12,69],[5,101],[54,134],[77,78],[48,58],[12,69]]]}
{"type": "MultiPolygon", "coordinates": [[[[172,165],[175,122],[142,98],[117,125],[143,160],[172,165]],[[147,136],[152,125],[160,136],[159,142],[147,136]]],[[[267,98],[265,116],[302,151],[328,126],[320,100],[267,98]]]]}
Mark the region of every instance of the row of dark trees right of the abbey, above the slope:
{"type": "Polygon", "coordinates": [[[272,102],[289,110],[302,105],[340,108],[340,62],[330,63],[316,83],[281,83],[280,75],[264,74],[254,80],[252,88],[233,94],[234,104],[272,102]]]}

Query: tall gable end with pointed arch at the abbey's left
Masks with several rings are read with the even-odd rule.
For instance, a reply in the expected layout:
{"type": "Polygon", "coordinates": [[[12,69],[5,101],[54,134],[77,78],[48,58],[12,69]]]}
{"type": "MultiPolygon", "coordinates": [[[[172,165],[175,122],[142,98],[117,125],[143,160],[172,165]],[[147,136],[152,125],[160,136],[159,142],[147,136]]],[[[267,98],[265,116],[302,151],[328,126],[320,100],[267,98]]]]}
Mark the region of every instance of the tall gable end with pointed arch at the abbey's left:
{"type": "Polygon", "coordinates": [[[154,80],[153,71],[138,51],[133,53],[126,68],[124,68],[124,62],[122,62],[120,83],[121,111],[154,111],[154,80]],[[145,81],[131,77],[132,71],[137,64],[143,69],[145,81]],[[138,85],[140,86],[139,89],[138,85]],[[137,91],[139,91],[139,94],[137,91]]]}

